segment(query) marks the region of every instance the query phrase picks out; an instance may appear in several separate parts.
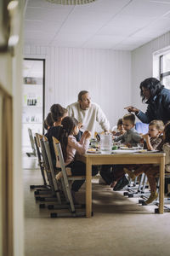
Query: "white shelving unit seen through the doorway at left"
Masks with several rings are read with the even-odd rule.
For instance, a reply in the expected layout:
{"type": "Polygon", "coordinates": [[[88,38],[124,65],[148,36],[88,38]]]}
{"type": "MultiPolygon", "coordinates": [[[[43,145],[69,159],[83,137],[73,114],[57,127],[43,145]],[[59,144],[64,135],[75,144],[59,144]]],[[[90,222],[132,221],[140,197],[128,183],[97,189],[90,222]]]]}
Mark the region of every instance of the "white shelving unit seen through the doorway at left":
{"type": "Polygon", "coordinates": [[[22,145],[30,147],[28,128],[33,136],[42,133],[43,119],[43,61],[24,61],[23,108],[22,108],[22,145]]]}

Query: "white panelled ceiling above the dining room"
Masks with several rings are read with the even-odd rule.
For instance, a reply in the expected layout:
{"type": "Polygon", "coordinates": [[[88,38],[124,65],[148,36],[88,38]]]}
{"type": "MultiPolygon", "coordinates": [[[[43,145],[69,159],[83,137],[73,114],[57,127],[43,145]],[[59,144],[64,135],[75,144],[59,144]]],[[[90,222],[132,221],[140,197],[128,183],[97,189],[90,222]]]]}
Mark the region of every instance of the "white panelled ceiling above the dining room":
{"type": "Polygon", "coordinates": [[[170,0],[27,0],[25,44],[133,50],[170,31],[170,0]]]}

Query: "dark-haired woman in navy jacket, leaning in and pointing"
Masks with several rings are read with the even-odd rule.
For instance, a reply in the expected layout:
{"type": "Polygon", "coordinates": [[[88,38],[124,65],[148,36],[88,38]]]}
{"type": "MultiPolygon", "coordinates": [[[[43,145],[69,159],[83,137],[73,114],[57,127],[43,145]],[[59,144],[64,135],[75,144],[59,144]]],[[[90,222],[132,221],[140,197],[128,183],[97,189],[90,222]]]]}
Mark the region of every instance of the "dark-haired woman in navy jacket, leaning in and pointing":
{"type": "Polygon", "coordinates": [[[148,104],[145,113],[133,106],[128,106],[125,109],[135,113],[146,124],[154,119],[160,119],[164,124],[170,120],[170,90],[166,89],[159,80],[144,79],[140,84],[140,96],[142,102],[148,104]]]}

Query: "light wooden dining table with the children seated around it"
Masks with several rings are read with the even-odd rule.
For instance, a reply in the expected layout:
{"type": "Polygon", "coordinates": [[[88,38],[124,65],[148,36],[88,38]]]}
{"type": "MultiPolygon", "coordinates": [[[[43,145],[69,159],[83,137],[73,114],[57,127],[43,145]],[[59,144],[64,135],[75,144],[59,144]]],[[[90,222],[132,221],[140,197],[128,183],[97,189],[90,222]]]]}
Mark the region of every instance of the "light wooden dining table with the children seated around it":
{"type": "Polygon", "coordinates": [[[164,208],[164,166],[165,153],[132,153],[132,154],[83,154],[80,157],[86,163],[86,217],[92,216],[92,166],[97,165],[127,165],[156,164],[160,166],[159,213],[164,208]]]}

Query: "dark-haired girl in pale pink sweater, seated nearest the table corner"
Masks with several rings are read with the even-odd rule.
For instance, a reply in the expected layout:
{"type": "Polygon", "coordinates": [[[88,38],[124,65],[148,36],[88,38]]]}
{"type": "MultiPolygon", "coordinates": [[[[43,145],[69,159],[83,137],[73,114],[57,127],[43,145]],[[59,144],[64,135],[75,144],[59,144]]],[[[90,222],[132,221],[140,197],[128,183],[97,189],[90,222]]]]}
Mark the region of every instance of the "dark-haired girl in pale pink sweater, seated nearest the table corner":
{"type": "MultiPolygon", "coordinates": [[[[80,126],[77,119],[72,117],[65,117],[61,121],[61,129],[59,131],[59,142],[61,144],[65,166],[71,168],[73,176],[85,176],[86,165],[80,160],[76,160],[76,154],[84,154],[88,149],[89,139],[91,137],[90,131],[84,131],[80,142],[77,142],[77,136],[80,126]]],[[[92,167],[92,176],[98,173],[98,167],[92,167]]],[[[75,192],[77,192],[85,180],[76,180],[72,183],[71,194],[75,201],[75,192]]]]}

